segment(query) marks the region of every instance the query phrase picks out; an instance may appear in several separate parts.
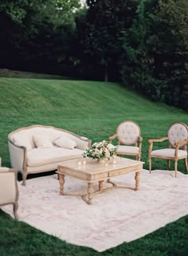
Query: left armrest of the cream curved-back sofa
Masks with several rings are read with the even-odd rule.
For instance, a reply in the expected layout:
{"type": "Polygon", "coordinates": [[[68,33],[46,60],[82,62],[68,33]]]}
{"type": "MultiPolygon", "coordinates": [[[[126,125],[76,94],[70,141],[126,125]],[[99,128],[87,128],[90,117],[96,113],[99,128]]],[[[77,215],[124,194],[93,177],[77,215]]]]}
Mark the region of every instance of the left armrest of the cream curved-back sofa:
{"type": "Polygon", "coordinates": [[[23,146],[18,146],[10,140],[8,140],[8,144],[11,167],[18,169],[18,171],[23,172],[26,168],[27,148],[23,146]]]}

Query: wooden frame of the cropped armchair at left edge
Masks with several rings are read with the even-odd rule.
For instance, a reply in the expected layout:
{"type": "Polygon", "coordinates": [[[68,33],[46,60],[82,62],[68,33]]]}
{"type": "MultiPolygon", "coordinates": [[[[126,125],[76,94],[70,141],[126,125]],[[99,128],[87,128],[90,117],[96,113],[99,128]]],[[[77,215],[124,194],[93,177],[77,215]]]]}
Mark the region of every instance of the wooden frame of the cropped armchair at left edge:
{"type": "MultiPolygon", "coordinates": [[[[7,202],[5,201],[5,203],[0,203],[0,207],[5,206],[7,204],[12,204],[13,205],[13,211],[14,211],[14,218],[18,219],[18,197],[19,197],[19,191],[18,191],[18,170],[14,169],[14,168],[8,168],[8,167],[0,167],[0,179],[1,179],[1,175],[6,175],[7,174],[7,179],[9,179],[10,174],[14,175],[14,183],[12,184],[12,186],[14,186],[14,199],[11,199],[10,201],[8,200],[7,202]],[[2,171],[1,171],[2,169],[2,171]]],[[[8,181],[7,181],[8,182],[8,181]]],[[[5,191],[6,193],[6,191],[5,191]]],[[[3,195],[0,195],[0,197],[3,195]]],[[[3,200],[2,200],[3,201],[3,200]]]]}

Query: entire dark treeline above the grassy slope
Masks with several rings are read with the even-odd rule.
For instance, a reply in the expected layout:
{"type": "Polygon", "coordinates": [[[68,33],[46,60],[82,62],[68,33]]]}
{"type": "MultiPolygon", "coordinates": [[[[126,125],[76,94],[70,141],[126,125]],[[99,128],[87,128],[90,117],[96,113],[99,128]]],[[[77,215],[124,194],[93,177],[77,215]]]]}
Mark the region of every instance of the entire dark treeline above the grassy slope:
{"type": "Polygon", "coordinates": [[[188,109],[187,0],[4,0],[0,68],[120,81],[188,109]]]}

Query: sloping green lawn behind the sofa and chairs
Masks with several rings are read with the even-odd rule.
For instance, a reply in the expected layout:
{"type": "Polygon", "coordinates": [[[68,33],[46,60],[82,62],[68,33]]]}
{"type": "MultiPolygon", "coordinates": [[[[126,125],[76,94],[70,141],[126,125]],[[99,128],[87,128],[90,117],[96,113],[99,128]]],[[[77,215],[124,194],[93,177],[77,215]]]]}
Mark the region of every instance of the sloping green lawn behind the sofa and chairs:
{"type": "MultiPolygon", "coordinates": [[[[141,128],[142,159],[148,168],[147,140],[166,136],[174,122],[188,123],[187,112],[151,102],[116,83],[49,78],[0,77],[0,156],[4,165],[10,166],[7,135],[16,128],[54,125],[95,142],[108,140],[123,120],[134,120],[141,128]]],[[[164,160],[153,163],[155,168],[166,168],[164,160]]],[[[179,163],[184,172],[183,161],[179,163]]]]}

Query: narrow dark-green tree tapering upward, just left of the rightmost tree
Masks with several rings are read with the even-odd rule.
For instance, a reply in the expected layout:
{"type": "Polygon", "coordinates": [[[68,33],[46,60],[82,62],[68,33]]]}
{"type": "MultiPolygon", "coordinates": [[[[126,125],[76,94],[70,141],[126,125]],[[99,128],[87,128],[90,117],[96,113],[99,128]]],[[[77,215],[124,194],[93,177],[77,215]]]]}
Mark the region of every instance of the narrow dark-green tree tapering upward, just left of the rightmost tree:
{"type": "Polygon", "coordinates": [[[159,82],[152,76],[152,56],[147,49],[147,28],[145,1],[141,0],[132,26],[122,37],[121,74],[123,82],[131,89],[139,90],[159,100],[159,82]]]}

